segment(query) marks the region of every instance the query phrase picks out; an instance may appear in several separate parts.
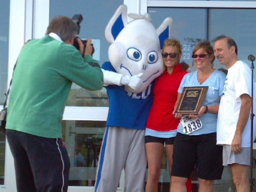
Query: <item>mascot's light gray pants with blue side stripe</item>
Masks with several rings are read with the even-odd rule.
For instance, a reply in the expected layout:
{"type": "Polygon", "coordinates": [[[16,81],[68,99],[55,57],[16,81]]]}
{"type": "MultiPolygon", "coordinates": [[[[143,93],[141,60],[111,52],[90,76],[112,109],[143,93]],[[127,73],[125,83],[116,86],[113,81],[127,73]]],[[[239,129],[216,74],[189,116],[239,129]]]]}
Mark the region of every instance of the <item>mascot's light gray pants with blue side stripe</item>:
{"type": "Polygon", "coordinates": [[[146,170],[145,130],[106,127],[95,192],[116,192],[124,169],[124,192],[143,192],[146,170]]]}

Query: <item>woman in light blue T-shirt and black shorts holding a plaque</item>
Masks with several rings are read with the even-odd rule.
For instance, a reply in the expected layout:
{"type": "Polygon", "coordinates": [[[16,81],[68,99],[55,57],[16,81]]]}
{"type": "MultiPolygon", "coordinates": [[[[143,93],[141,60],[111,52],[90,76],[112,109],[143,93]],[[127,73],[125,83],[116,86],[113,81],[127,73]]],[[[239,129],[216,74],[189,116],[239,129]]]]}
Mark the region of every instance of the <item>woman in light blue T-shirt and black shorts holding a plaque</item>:
{"type": "MultiPolygon", "coordinates": [[[[197,114],[182,115],[174,112],[175,118],[181,119],[174,142],[172,192],[185,190],[185,183],[195,165],[199,181],[198,191],[212,192],[214,180],[221,179],[223,171],[222,146],[216,145],[216,129],[220,96],[226,75],[213,68],[215,55],[210,42],[204,41],[196,45],[192,57],[198,70],[182,79],[177,103],[182,98],[185,87],[208,89],[197,114]]],[[[197,95],[194,98],[201,99],[198,97],[197,95]]]]}

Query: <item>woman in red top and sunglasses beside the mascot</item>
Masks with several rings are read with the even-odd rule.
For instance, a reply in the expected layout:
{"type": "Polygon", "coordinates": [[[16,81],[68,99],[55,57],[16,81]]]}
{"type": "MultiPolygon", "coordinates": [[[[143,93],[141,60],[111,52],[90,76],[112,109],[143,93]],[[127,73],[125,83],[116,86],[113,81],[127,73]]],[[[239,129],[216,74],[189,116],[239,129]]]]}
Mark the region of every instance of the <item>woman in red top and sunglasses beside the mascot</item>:
{"type": "MultiPolygon", "coordinates": [[[[181,56],[180,41],[167,39],[162,50],[165,71],[156,79],[153,90],[153,105],[146,123],[145,147],[148,162],[146,192],[158,191],[164,143],[169,174],[171,172],[174,138],[179,124],[179,119],[174,117],[173,110],[180,82],[183,76],[187,74],[180,64],[181,56]]],[[[191,181],[188,188],[188,191],[191,191],[191,181]]]]}

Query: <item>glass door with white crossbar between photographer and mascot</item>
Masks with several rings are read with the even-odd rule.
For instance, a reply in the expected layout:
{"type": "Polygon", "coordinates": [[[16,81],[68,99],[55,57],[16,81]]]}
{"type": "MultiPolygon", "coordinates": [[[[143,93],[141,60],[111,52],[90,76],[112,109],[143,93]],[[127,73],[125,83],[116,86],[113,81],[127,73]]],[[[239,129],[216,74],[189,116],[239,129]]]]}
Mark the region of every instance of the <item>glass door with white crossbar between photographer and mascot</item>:
{"type": "MultiPolygon", "coordinates": [[[[95,48],[93,57],[102,65],[104,61],[108,61],[109,47],[104,30],[121,4],[123,4],[121,0],[65,1],[65,3],[62,0],[50,1],[49,20],[58,15],[72,17],[75,14],[82,14],[83,20],[78,36],[81,39],[92,39],[95,48]]],[[[70,191],[84,189],[94,191],[108,106],[105,88],[100,91],[88,91],[73,83],[62,123],[63,137],[71,162],[70,191]]]]}

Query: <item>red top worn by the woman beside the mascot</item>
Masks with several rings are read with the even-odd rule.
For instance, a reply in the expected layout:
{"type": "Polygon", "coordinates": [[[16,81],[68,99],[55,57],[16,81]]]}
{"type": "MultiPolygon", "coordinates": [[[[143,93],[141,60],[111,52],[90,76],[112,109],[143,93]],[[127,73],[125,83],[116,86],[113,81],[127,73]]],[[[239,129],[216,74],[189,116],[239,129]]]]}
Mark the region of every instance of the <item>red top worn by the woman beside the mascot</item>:
{"type": "Polygon", "coordinates": [[[181,65],[174,68],[172,74],[164,71],[156,79],[153,90],[153,105],[148,115],[146,127],[155,131],[176,130],[180,119],[173,115],[174,105],[178,96],[178,88],[183,76],[187,74],[181,65]]]}

